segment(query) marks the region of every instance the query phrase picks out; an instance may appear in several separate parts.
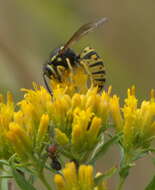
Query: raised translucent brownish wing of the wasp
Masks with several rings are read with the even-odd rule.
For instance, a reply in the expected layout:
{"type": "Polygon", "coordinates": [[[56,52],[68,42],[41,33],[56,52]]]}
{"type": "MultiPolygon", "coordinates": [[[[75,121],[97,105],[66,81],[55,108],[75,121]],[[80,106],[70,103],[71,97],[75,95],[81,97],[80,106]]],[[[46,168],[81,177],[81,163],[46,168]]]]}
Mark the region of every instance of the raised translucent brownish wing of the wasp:
{"type": "Polygon", "coordinates": [[[96,28],[107,22],[107,18],[101,18],[95,22],[87,23],[83,26],[81,26],[74,34],[73,36],[67,41],[67,43],[63,46],[63,48],[60,50],[60,54],[64,53],[65,50],[67,50],[73,43],[80,40],[83,36],[88,34],[88,32],[94,31],[96,28]]]}

